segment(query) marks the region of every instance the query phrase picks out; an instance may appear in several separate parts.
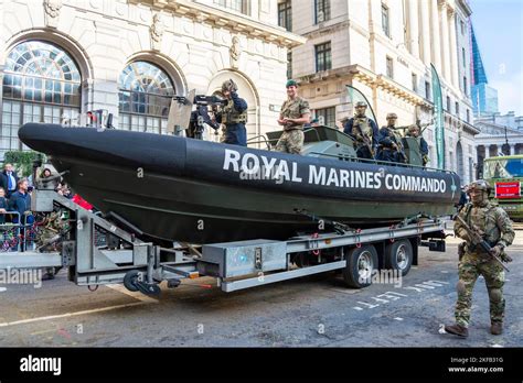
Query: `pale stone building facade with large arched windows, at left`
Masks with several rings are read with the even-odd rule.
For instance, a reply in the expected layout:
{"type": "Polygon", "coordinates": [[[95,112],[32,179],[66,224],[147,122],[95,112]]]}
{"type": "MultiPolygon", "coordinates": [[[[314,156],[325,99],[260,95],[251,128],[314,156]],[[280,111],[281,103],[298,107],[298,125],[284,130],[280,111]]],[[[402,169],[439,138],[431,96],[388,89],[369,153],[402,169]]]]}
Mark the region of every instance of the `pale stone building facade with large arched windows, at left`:
{"type": "Polygon", "coordinates": [[[119,129],[164,133],[171,96],[233,78],[248,136],[278,129],[287,50],[277,0],[0,0],[0,160],[29,121],[105,109],[119,129]]]}

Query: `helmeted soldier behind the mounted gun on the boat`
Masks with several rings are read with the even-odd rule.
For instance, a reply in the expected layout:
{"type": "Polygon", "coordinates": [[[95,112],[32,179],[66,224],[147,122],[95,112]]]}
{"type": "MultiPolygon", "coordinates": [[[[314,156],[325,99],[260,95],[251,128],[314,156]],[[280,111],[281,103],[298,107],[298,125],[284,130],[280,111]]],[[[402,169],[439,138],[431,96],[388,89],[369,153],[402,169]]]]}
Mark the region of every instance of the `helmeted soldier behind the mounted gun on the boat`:
{"type": "Polygon", "coordinates": [[[237,85],[232,80],[222,84],[222,94],[227,105],[216,113],[216,122],[225,125],[224,143],[247,146],[247,102],[239,98],[237,85]]]}

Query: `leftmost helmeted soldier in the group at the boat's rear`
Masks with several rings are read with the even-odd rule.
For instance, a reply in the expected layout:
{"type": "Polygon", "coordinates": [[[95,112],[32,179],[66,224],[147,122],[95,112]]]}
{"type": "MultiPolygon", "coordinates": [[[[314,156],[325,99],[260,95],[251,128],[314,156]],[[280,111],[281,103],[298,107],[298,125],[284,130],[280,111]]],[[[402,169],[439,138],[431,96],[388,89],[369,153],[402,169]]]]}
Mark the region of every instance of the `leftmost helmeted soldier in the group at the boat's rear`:
{"type": "Polygon", "coordinates": [[[355,109],[355,116],[346,121],[343,132],[354,140],[359,158],[372,160],[377,146],[377,125],[374,120],[365,116],[365,102],[356,102],[355,109]]]}

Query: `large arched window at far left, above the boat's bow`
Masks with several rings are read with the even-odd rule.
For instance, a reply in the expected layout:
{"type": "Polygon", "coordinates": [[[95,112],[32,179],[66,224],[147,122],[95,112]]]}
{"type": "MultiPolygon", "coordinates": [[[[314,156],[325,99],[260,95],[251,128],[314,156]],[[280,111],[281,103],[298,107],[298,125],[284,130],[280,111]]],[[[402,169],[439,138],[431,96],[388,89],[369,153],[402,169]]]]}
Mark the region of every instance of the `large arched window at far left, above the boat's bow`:
{"type": "Polygon", "coordinates": [[[0,155],[26,149],[18,139],[25,122],[61,123],[81,108],[82,78],[75,62],[58,46],[41,41],[17,45],[7,57],[2,86],[0,155]]]}

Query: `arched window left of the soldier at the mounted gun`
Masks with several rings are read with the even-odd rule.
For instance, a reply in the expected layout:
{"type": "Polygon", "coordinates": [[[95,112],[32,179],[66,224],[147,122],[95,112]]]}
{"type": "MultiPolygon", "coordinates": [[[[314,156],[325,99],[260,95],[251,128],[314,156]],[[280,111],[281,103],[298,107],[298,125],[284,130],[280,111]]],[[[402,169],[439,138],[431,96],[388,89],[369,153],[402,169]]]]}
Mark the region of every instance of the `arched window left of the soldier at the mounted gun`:
{"type": "Polygon", "coordinates": [[[148,62],[130,63],[118,87],[121,129],[166,133],[174,86],[162,69],[148,62]]]}

